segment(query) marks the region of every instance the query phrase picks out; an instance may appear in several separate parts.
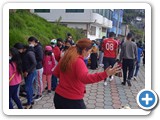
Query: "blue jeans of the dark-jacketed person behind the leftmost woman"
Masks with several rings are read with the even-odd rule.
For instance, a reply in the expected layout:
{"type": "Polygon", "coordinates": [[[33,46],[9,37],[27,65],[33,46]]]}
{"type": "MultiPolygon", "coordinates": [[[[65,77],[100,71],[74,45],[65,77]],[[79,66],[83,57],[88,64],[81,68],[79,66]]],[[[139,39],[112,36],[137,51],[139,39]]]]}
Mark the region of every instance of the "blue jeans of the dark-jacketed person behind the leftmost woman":
{"type": "Polygon", "coordinates": [[[36,70],[32,73],[30,73],[26,78],[25,78],[25,90],[27,93],[27,104],[31,105],[31,102],[33,101],[32,96],[33,96],[33,82],[36,78],[36,70]]]}

